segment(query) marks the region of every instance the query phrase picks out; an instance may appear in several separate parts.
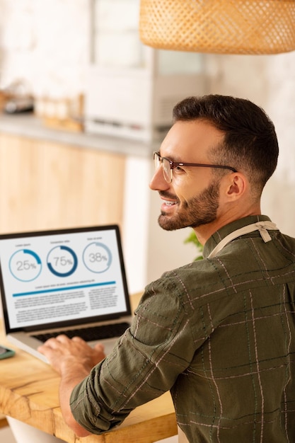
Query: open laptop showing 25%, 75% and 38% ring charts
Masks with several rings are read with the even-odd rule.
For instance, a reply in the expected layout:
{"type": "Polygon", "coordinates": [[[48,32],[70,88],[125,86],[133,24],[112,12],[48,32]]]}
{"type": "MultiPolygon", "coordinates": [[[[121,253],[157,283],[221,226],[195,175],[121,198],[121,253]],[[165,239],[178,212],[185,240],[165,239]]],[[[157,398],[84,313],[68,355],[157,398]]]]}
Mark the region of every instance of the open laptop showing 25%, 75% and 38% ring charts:
{"type": "Polygon", "coordinates": [[[108,354],[132,320],[117,225],[0,235],[0,289],[8,341],[44,362],[47,338],[108,354]]]}

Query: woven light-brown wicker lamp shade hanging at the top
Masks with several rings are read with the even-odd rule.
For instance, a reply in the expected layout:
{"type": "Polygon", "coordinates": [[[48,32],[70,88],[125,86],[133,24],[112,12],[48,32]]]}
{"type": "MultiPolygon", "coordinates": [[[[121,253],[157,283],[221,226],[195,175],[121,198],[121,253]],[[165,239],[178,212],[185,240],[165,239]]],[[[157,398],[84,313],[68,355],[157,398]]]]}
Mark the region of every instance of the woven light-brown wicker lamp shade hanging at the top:
{"type": "Polygon", "coordinates": [[[148,46],[216,54],[295,50],[295,0],[141,0],[148,46]]]}

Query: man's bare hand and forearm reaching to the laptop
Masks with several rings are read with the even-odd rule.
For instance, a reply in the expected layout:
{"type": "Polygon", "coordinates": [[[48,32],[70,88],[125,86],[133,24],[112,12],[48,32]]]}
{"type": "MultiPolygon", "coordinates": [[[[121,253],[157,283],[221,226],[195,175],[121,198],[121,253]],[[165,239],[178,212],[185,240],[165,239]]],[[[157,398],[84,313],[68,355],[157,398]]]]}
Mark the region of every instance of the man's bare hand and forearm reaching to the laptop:
{"type": "Polygon", "coordinates": [[[71,391],[91,372],[91,369],[105,358],[102,345],[90,347],[79,337],[72,339],[66,335],[50,338],[38,348],[52,367],[62,376],[59,386],[59,401],[62,415],[69,427],[79,435],[86,437],[90,434],[74,419],[69,405],[71,391]]]}

